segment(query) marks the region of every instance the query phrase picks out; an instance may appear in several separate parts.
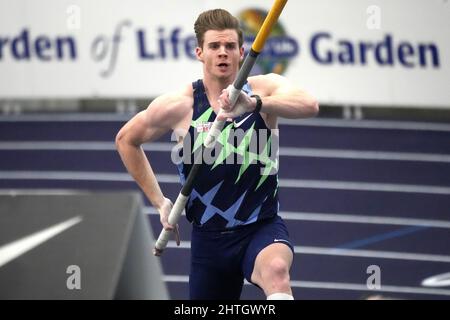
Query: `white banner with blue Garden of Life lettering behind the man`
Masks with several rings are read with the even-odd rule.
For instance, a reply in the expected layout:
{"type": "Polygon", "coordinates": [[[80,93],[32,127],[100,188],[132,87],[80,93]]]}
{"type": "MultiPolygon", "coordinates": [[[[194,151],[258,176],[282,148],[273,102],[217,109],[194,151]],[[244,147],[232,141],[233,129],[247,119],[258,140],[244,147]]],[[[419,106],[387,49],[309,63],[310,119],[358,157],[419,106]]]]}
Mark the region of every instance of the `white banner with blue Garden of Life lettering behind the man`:
{"type": "MultiPolygon", "coordinates": [[[[271,4],[0,0],[0,98],[154,97],[201,77],[190,57],[201,11],[271,4]]],[[[290,0],[280,23],[299,48],[284,74],[321,103],[450,107],[448,1],[290,0]]]]}

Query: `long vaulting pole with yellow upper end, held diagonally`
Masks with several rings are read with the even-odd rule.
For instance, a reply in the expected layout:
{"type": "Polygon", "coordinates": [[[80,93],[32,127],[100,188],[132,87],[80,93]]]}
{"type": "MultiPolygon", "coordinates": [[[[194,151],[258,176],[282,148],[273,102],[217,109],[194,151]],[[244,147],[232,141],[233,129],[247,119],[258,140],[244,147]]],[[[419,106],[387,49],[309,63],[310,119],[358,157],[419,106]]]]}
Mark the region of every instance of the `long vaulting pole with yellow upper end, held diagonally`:
{"type": "MultiPolygon", "coordinates": [[[[245,58],[245,61],[237,74],[236,80],[234,81],[233,86],[231,87],[229,93],[231,105],[234,105],[236,103],[236,100],[239,97],[242,87],[244,86],[245,81],[247,80],[247,77],[250,74],[253,65],[255,64],[258,55],[262,52],[264,44],[270,32],[272,31],[273,26],[277,22],[278,17],[281,14],[281,11],[283,11],[286,2],[287,0],[275,0],[275,2],[272,5],[272,8],[267,14],[267,17],[264,19],[263,25],[261,26],[261,29],[258,31],[258,34],[256,35],[256,38],[253,41],[250,52],[245,58]]],[[[206,137],[203,143],[203,146],[205,148],[214,147],[217,137],[220,135],[220,132],[222,131],[224,124],[225,120],[219,121],[216,118],[213,125],[211,126],[211,129],[208,132],[208,136],[206,137]]],[[[183,185],[183,188],[181,189],[180,194],[178,195],[177,200],[175,201],[172,207],[172,210],[170,211],[168,218],[169,224],[176,225],[178,223],[178,220],[180,219],[181,214],[186,206],[186,202],[188,201],[189,196],[191,195],[195,177],[197,176],[200,166],[201,163],[196,163],[196,161],[192,165],[191,171],[189,172],[186,182],[183,185]]],[[[156,241],[155,244],[154,250],[155,255],[160,256],[162,254],[162,252],[167,246],[167,242],[169,241],[171,234],[172,231],[168,231],[165,229],[161,231],[158,240],[156,241]]]]}

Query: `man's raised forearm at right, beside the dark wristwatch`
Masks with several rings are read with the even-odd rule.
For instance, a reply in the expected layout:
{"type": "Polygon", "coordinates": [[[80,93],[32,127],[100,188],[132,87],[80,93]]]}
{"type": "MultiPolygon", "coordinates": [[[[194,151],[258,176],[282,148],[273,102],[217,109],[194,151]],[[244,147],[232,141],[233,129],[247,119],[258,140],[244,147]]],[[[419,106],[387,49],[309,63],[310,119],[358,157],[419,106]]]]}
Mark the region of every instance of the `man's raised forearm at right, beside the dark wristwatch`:
{"type": "Polygon", "coordinates": [[[319,112],[316,99],[306,93],[277,94],[261,97],[261,112],[281,118],[310,118],[319,112]]]}

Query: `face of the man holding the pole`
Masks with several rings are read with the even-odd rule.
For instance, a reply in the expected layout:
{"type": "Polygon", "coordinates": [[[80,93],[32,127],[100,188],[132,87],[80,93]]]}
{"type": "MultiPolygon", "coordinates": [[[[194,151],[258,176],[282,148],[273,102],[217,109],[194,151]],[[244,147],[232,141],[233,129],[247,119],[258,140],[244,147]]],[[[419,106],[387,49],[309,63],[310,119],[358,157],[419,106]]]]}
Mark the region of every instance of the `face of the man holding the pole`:
{"type": "Polygon", "coordinates": [[[239,62],[244,58],[244,48],[239,47],[236,30],[208,30],[203,47],[197,47],[196,54],[204,64],[204,73],[231,83],[239,70],[239,62]]]}

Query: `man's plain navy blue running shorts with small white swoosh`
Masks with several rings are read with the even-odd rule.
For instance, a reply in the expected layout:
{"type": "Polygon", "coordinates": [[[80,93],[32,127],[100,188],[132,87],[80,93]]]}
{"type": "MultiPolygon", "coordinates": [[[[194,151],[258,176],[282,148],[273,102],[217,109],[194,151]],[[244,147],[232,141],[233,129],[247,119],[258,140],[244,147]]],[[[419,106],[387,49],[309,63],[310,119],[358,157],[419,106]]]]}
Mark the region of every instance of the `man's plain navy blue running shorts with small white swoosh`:
{"type": "Polygon", "coordinates": [[[244,278],[251,282],[256,256],[272,243],[294,252],[280,216],[228,231],[193,226],[189,295],[193,300],[237,300],[244,278]]]}

